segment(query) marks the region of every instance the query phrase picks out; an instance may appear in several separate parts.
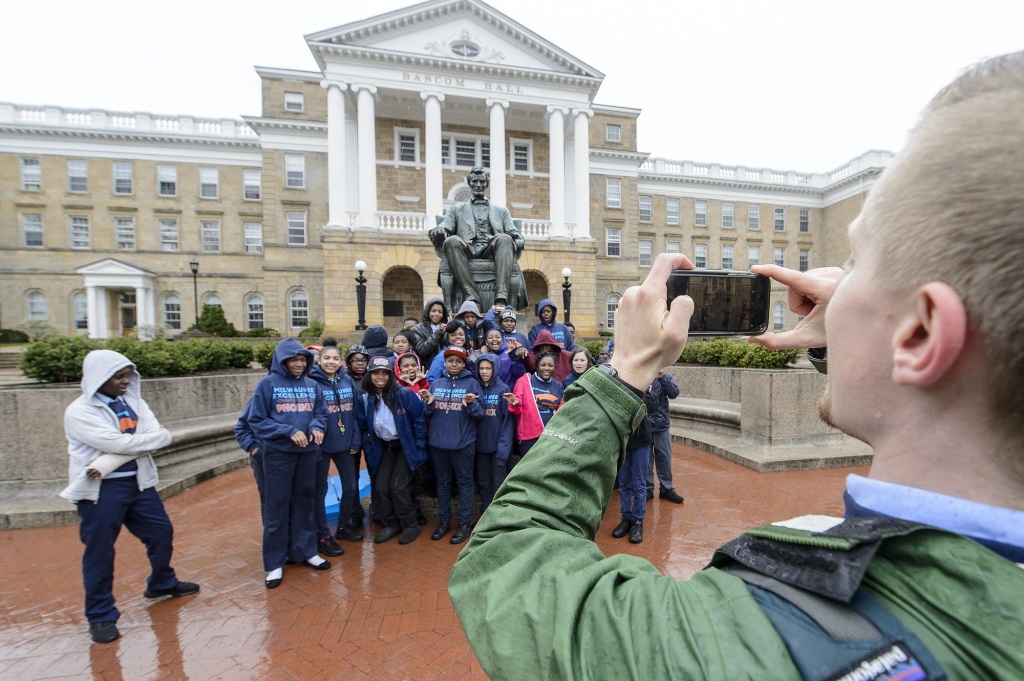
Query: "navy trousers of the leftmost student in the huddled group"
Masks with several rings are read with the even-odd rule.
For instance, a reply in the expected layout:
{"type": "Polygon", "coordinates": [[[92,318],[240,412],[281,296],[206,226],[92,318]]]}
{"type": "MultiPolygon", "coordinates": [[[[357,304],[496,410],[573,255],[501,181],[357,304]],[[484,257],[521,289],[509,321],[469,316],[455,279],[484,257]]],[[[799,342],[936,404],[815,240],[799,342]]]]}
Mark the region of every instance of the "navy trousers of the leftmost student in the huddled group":
{"type": "Polygon", "coordinates": [[[263,568],[284,567],[289,556],[305,560],[316,555],[313,503],[319,451],[263,453],[266,514],[263,518],[263,568]]]}

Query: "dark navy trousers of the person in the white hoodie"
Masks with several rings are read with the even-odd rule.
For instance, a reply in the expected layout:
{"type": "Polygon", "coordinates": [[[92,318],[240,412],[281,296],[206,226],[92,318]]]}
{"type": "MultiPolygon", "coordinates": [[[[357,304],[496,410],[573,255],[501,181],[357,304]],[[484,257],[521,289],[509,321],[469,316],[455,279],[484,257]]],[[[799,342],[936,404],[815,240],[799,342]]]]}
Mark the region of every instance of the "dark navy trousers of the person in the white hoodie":
{"type": "Polygon", "coordinates": [[[171,567],[174,527],[154,487],[140,491],[134,476],[103,480],[99,499],[79,502],[78,515],[82,519],[78,536],[85,545],[85,616],[90,623],[117,622],[121,614],[114,605],[114,543],[122,525],[145,545],[146,588],[173,589],[178,583],[171,567]]]}

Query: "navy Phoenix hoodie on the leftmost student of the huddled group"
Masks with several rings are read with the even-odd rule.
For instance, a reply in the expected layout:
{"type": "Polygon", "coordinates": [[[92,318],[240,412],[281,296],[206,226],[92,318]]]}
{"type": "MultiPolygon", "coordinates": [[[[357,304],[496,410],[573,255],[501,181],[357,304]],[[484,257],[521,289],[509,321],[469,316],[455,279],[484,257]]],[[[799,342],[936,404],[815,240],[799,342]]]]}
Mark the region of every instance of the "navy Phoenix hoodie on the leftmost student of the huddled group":
{"type": "Polygon", "coordinates": [[[311,439],[304,448],[292,441],[292,435],[300,431],[306,437],[313,430],[327,432],[327,405],[316,382],[308,377],[312,364],[313,353],[294,338],[286,338],[274,348],[270,373],[256,385],[249,410],[249,427],[267,449],[297,454],[317,451],[311,439]],[[296,377],[285,360],[298,354],[306,357],[306,369],[296,377]]]}

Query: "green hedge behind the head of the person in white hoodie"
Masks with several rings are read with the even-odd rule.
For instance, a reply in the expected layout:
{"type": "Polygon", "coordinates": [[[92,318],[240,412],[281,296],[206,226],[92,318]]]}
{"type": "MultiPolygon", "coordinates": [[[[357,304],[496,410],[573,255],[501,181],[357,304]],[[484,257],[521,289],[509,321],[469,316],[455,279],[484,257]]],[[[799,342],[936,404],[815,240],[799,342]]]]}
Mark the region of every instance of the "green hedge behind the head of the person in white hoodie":
{"type": "Polygon", "coordinates": [[[219,369],[246,369],[253,360],[249,343],[195,338],[186,341],[139,341],[114,338],[89,340],[81,336],[33,341],[22,352],[20,369],[29,378],[48,383],[82,380],[82,360],[90,350],[116,350],[134,363],[145,378],[187,376],[219,369]]]}

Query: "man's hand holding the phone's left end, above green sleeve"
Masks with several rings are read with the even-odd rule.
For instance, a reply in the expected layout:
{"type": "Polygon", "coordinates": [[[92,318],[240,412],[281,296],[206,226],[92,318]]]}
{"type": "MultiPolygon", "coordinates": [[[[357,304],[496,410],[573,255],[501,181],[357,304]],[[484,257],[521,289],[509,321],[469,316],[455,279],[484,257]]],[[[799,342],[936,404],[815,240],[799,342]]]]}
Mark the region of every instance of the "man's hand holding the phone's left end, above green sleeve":
{"type": "Polygon", "coordinates": [[[639,390],[650,387],[686,345],[693,300],[679,296],[666,307],[666,282],[673,269],[693,269],[693,263],[679,253],[657,256],[644,283],[628,289],[615,311],[615,354],[608,364],[639,390]]]}

